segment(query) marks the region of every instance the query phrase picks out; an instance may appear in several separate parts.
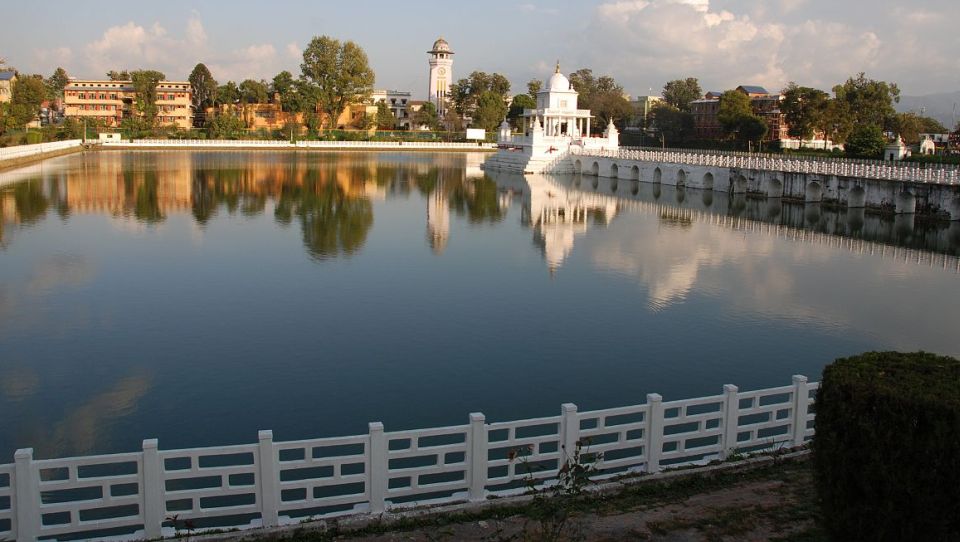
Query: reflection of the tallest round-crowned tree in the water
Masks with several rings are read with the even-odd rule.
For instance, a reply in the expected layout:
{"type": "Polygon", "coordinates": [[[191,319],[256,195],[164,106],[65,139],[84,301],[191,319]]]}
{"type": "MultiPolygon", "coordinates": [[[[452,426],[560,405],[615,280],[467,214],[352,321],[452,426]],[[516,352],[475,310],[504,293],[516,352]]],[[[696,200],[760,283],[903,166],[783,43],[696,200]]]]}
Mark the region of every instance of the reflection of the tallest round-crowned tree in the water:
{"type": "Polygon", "coordinates": [[[366,197],[351,197],[335,182],[320,182],[315,170],[302,184],[284,185],[274,216],[289,224],[295,216],[303,228],[310,256],[326,260],[354,254],[373,226],[373,206],[366,197]]]}

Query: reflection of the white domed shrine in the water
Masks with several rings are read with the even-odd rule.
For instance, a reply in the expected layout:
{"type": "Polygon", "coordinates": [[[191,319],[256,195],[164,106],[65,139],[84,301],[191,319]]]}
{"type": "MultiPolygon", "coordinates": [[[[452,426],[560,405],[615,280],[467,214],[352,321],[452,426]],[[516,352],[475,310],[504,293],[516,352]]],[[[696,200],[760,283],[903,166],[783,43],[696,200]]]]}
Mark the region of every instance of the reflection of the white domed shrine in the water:
{"type": "Polygon", "coordinates": [[[534,229],[551,274],[563,265],[576,236],[585,233],[590,222],[608,225],[617,214],[612,198],[569,190],[542,175],[527,175],[524,180],[528,186],[524,218],[534,229]]]}

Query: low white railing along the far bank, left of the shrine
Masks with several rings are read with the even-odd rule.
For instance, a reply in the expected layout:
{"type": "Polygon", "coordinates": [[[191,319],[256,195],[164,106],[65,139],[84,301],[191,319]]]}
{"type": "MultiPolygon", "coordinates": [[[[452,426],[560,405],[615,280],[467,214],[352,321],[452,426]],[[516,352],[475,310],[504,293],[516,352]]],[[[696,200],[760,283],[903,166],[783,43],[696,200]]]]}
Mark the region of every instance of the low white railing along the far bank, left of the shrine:
{"type": "Polygon", "coordinates": [[[489,150],[495,143],[446,143],[442,141],[276,141],[241,139],[135,139],[106,141],[105,147],[191,147],[236,149],[398,149],[398,150],[489,150]]]}

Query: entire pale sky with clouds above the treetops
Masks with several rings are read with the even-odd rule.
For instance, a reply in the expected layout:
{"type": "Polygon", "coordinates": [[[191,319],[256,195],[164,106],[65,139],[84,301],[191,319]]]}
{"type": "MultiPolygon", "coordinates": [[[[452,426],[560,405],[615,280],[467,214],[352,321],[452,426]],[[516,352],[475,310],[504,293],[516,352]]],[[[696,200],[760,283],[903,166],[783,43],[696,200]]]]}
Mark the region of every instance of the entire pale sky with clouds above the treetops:
{"type": "Polygon", "coordinates": [[[298,75],[303,48],[329,35],[364,48],[378,88],[424,98],[426,51],[443,36],[455,79],[499,72],[515,93],[558,60],[566,73],[612,75],[632,96],[686,77],[704,90],[829,90],[860,71],[904,95],[960,90],[960,0],[44,0],[3,13],[7,64],[80,78],[148,68],[185,80],[203,62],[221,83],[270,80],[298,75]]]}

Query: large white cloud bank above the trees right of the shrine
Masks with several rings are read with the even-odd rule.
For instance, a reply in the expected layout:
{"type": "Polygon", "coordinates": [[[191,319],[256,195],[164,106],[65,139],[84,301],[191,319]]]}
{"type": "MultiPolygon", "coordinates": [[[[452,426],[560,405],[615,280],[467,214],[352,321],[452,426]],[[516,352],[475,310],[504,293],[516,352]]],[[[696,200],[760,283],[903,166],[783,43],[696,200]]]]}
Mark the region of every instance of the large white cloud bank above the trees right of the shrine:
{"type": "Polygon", "coordinates": [[[901,86],[956,88],[950,17],[885,4],[871,5],[864,18],[849,6],[824,11],[807,0],[724,2],[723,9],[709,0],[611,0],[595,10],[583,64],[614,74],[628,90],[688,76],[715,90],[776,90],[790,81],[829,89],[860,71],[901,86]],[[940,36],[935,46],[930,36],[940,36]]]}

